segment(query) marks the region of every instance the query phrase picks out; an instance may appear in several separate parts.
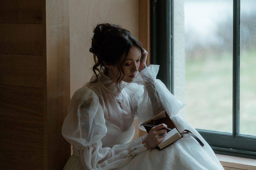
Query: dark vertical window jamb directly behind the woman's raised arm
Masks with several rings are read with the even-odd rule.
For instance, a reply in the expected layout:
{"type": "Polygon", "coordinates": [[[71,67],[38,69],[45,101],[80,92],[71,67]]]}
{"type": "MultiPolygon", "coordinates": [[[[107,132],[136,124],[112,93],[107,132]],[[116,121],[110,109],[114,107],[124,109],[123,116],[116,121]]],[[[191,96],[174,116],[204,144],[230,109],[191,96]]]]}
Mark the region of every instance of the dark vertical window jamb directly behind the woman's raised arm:
{"type": "Polygon", "coordinates": [[[171,38],[173,34],[173,24],[171,24],[173,22],[171,13],[173,5],[171,5],[172,1],[168,0],[151,0],[150,2],[150,63],[161,66],[157,78],[173,94],[173,38],[171,38]]]}

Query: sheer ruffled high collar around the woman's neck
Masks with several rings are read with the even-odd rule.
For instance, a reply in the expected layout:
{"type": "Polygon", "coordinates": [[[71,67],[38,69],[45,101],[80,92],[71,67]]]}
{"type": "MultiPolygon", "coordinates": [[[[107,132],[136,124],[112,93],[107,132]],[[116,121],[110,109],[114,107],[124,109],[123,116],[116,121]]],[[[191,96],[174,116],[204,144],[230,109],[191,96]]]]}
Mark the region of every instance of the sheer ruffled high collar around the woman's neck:
{"type": "MultiPolygon", "coordinates": [[[[116,88],[116,83],[109,79],[103,72],[100,73],[98,77],[98,81],[108,90],[110,90],[112,93],[119,95],[118,88],[116,88]]],[[[119,90],[122,91],[123,88],[127,86],[127,83],[124,81],[121,81],[119,90]]]]}

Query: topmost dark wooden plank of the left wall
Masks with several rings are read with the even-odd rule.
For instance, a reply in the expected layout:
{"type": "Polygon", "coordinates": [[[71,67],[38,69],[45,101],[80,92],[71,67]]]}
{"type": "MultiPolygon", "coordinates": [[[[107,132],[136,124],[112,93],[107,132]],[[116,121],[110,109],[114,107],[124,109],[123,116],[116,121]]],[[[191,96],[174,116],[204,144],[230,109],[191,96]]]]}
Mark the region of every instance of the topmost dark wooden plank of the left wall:
{"type": "Polygon", "coordinates": [[[0,23],[41,24],[42,0],[1,0],[0,23]]]}

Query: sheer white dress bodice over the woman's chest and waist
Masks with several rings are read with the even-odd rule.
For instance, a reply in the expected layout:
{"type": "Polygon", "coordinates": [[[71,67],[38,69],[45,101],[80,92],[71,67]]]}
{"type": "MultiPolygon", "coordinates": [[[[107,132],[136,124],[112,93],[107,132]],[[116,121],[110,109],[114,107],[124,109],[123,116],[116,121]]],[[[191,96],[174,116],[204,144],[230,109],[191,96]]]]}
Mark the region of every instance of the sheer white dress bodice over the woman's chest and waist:
{"type": "Polygon", "coordinates": [[[97,82],[89,83],[86,86],[95,91],[103,108],[107,133],[101,139],[102,147],[124,145],[127,141],[131,141],[135,132],[134,111],[130,106],[132,93],[126,88],[127,83],[121,82],[119,91],[116,83],[101,73],[97,82]],[[123,99],[123,109],[118,102],[121,98],[123,99]]]}

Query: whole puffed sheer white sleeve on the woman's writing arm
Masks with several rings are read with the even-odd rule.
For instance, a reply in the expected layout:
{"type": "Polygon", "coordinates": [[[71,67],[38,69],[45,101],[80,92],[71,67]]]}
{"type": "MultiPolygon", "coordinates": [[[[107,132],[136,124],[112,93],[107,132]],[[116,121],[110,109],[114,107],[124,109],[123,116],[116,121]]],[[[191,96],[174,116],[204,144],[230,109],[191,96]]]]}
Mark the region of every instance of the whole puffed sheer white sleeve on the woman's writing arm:
{"type": "Polygon", "coordinates": [[[83,166],[101,170],[118,168],[147,150],[142,138],[125,145],[102,148],[101,139],[106,133],[99,98],[93,90],[84,86],[71,98],[68,115],[62,126],[63,137],[78,150],[83,166]]]}

